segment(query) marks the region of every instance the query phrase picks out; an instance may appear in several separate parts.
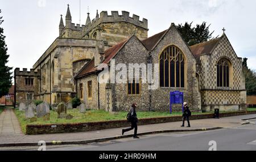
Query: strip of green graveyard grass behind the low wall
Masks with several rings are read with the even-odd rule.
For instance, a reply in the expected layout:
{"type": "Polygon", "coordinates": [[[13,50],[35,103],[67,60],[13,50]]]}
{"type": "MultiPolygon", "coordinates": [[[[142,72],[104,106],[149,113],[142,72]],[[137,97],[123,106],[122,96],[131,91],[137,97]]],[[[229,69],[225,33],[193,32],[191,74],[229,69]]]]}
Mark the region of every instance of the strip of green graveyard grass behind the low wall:
{"type": "MultiPolygon", "coordinates": [[[[212,113],[212,112],[208,112],[212,113]]],[[[105,112],[104,110],[88,110],[85,113],[80,113],[79,109],[68,109],[67,114],[73,116],[72,120],[66,120],[65,118],[57,118],[57,112],[51,110],[50,120],[43,121],[43,118],[38,118],[36,122],[30,122],[26,120],[25,112],[15,109],[15,114],[18,117],[22,132],[26,133],[26,125],[41,125],[41,124],[53,124],[53,123],[80,123],[80,122],[100,122],[100,121],[113,121],[113,120],[126,120],[127,112],[118,112],[112,114],[105,112]]],[[[192,113],[192,114],[207,114],[207,113],[192,113]]],[[[181,116],[182,112],[137,112],[139,119],[141,118],[153,118],[153,117],[170,117],[181,116]]]]}

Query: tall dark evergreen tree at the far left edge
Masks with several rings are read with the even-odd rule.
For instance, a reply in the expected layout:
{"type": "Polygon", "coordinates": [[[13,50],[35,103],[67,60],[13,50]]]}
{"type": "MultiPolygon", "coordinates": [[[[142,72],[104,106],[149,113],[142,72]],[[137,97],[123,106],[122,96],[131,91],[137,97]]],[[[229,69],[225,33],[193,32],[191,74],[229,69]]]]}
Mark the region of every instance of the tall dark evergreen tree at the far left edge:
{"type": "MultiPolygon", "coordinates": [[[[1,10],[0,10],[1,13],[1,10]]],[[[3,20],[0,17],[0,25],[3,20]]],[[[7,95],[11,87],[11,69],[12,67],[6,66],[9,55],[7,54],[7,47],[5,44],[5,36],[3,36],[3,28],[0,27],[0,97],[7,95]]]]}

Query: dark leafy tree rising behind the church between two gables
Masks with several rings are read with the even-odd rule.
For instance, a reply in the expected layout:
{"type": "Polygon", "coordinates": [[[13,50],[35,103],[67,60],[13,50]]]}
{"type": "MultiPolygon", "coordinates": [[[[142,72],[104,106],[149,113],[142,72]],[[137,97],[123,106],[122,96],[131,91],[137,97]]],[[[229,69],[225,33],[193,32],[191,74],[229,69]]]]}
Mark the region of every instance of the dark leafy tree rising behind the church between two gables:
{"type": "Polygon", "coordinates": [[[212,38],[212,34],[214,31],[210,33],[210,25],[207,26],[206,22],[203,22],[201,25],[197,24],[196,27],[192,27],[192,23],[189,24],[188,22],[186,22],[184,25],[177,25],[177,29],[189,46],[199,44],[200,42],[205,42],[210,39],[214,39],[212,38]]]}

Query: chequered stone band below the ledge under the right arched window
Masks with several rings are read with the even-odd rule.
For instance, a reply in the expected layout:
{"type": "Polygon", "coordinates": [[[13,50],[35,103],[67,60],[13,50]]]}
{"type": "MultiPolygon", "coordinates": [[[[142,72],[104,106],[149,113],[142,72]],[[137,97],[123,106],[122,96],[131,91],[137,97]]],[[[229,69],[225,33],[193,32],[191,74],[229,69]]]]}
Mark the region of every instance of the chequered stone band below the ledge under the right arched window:
{"type": "Polygon", "coordinates": [[[203,105],[240,105],[240,91],[203,91],[203,105]]]}

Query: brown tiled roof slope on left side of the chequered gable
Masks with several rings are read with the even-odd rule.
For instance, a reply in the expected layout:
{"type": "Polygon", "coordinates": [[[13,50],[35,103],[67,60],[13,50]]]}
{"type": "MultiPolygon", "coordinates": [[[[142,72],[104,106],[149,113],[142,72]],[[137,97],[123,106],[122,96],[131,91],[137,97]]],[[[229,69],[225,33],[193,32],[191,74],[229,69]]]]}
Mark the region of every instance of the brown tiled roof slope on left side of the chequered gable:
{"type": "Polygon", "coordinates": [[[202,54],[211,53],[212,50],[218,44],[218,41],[220,41],[220,40],[221,40],[221,37],[217,38],[217,39],[201,42],[201,43],[196,44],[196,45],[189,46],[189,48],[191,49],[192,54],[195,56],[196,61],[200,62],[200,56],[202,54]]]}

